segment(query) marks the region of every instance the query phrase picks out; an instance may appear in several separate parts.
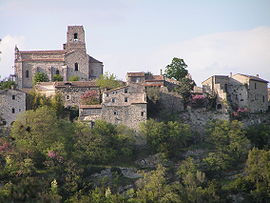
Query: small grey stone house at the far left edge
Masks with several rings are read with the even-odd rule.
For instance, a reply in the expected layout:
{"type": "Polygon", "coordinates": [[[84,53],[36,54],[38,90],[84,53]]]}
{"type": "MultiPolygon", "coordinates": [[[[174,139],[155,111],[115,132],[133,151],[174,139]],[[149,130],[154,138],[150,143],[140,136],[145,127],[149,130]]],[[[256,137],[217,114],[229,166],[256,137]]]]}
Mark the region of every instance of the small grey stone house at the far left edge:
{"type": "Polygon", "coordinates": [[[18,89],[0,90],[0,117],[10,126],[18,114],[26,110],[26,93],[18,89]]]}

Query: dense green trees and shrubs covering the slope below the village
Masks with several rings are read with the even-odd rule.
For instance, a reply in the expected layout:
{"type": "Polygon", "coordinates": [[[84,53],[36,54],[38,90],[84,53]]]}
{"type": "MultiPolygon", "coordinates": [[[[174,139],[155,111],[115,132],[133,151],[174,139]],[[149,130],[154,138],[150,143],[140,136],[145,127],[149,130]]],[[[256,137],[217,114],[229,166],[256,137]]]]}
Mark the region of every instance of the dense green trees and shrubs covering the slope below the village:
{"type": "Polygon", "coordinates": [[[9,136],[1,131],[0,202],[270,201],[269,125],[217,120],[200,139],[180,121],[148,120],[140,132],[104,121],[90,128],[61,116],[57,97],[32,97],[33,110],[9,136]],[[155,154],[159,164],[141,168],[141,178],[119,171],[155,154]],[[106,168],[111,177],[95,178],[106,168]]]}

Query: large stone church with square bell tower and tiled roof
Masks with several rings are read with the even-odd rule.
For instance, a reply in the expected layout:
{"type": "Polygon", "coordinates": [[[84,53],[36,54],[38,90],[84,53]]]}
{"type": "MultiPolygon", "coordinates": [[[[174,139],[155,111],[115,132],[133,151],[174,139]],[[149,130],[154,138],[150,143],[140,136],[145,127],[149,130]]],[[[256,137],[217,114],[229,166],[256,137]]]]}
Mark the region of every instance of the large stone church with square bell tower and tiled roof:
{"type": "Polygon", "coordinates": [[[20,51],[15,47],[15,75],[19,88],[31,88],[36,72],[44,72],[52,81],[61,75],[64,81],[71,76],[91,80],[103,73],[103,63],[86,53],[83,26],[68,26],[63,50],[20,51]]]}

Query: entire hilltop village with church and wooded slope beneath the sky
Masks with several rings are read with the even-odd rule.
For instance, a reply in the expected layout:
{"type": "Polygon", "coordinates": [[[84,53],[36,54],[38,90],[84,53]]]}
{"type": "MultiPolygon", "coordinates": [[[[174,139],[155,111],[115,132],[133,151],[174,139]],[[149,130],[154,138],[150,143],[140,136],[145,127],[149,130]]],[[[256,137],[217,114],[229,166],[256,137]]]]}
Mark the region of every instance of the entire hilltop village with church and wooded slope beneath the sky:
{"type": "Polygon", "coordinates": [[[0,202],[269,202],[270,91],[259,75],[195,84],[183,59],[125,81],[87,54],[21,51],[0,81],[0,202]],[[106,70],[106,69],[105,69],[106,70]]]}

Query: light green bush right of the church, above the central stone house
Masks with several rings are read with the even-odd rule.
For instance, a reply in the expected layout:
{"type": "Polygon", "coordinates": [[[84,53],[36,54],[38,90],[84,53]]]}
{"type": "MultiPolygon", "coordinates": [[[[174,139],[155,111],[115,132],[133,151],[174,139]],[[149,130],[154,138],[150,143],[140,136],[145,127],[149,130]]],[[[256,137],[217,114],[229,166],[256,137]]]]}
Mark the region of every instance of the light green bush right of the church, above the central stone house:
{"type": "Polygon", "coordinates": [[[121,83],[116,79],[116,76],[114,74],[110,74],[109,72],[100,75],[96,80],[96,84],[101,89],[113,89],[121,86],[121,83]]]}

